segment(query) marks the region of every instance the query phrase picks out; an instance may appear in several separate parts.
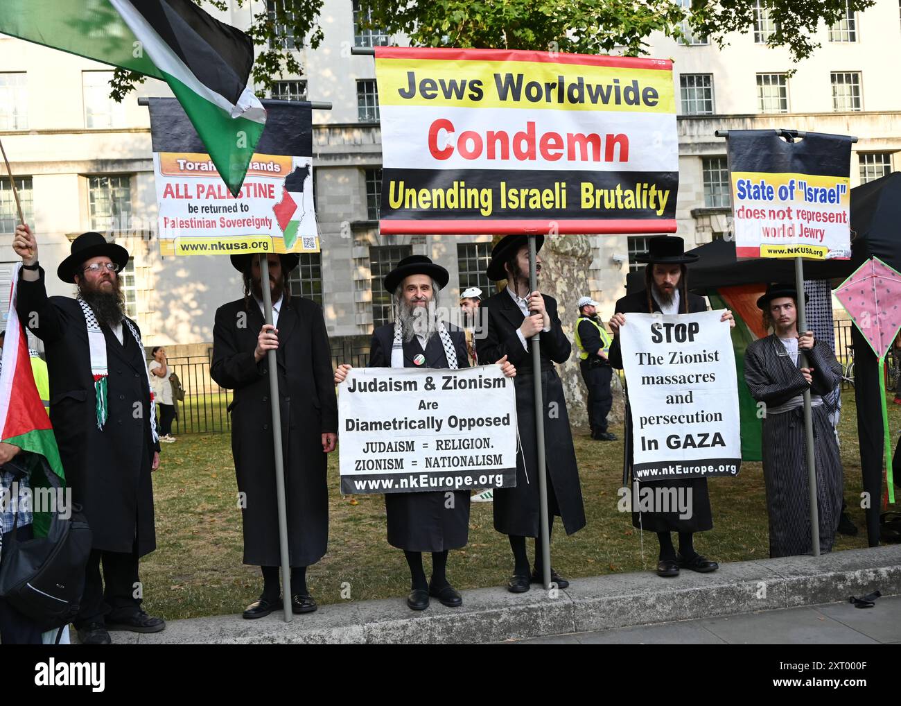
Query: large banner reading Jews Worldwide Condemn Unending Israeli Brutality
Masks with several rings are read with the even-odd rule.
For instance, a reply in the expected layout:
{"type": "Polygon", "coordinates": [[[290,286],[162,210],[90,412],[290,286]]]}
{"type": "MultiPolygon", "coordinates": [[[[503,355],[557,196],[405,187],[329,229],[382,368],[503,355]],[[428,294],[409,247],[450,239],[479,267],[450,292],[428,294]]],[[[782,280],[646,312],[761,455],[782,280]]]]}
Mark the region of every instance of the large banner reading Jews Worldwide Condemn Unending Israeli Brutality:
{"type": "Polygon", "coordinates": [[[669,60],[376,48],[381,232],[672,233],[669,60]]]}

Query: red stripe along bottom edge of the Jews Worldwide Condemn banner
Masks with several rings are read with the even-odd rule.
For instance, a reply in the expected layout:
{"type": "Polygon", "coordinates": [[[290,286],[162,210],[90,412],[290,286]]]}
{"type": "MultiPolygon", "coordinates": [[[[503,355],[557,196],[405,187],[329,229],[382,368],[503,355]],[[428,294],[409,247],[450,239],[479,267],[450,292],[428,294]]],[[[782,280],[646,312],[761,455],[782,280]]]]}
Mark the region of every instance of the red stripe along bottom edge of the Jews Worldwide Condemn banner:
{"type": "Polygon", "coordinates": [[[379,231],[385,235],[504,235],[511,233],[547,234],[656,234],[676,233],[675,220],[484,220],[484,221],[404,221],[382,220],[379,231]]]}

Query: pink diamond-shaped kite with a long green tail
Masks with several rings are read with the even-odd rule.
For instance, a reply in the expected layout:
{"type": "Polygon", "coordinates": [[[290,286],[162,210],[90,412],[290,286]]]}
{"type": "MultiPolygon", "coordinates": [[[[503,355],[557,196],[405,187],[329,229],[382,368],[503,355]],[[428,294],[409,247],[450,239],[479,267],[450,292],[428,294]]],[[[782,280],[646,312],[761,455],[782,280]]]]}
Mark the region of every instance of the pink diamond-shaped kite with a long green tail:
{"type": "Polygon", "coordinates": [[[888,500],[895,502],[892,479],[891,438],[888,433],[886,381],[882,375],[886,353],[901,328],[901,274],[877,257],[870,258],[842,282],[835,297],[851,315],[854,325],[876,353],[879,370],[879,392],[882,399],[882,425],[885,431],[888,500]]]}

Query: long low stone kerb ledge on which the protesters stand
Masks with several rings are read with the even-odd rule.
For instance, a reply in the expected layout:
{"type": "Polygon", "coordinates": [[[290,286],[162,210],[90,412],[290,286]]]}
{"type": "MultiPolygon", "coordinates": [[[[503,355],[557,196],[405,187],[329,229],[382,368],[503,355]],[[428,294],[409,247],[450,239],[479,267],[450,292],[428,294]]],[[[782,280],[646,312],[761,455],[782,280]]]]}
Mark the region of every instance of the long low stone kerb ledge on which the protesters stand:
{"type": "Polygon", "coordinates": [[[456,609],[432,601],[428,610],[414,612],[398,596],[326,605],[290,623],[280,612],[259,620],[221,615],[173,620],[153,635],[117,632],[112,637],[114,644],[141,645],[479,644],[543,636],[568,636],[549,639],[569,642],[644,641],[676,630],[685,637],[671,641],[901,640],[901,599],[882,598],[868,610],[827,605],[872,591],[901,595],[901,545],[723,564],[714,573],[683,572],[675,579],[614,573],[573,579],[566,591],[533,586],[514,594],[496,586],[463,591],[463,606],[456,609]]]}

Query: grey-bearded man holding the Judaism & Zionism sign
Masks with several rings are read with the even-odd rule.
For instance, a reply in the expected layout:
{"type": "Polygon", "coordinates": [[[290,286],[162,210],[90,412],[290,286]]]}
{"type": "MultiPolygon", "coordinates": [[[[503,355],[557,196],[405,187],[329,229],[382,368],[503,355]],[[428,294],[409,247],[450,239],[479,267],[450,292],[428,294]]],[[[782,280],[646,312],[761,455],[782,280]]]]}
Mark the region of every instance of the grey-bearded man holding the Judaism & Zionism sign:
{"type": "MultiPolygon", "coordinates": [[[[448,271],[424,255],[404,258],[387,274],[385,289],[394,297],[396,318],[372,333],[370,368],[469,367],[464,332],[438,316],[439,292],[448,280],[448,271]]],[[[506,375],[515,374],[514,366],[498,362],[506,375]]],[[[350,365],[340,365],[335,383],[348,371],[350,365]]],[[[463,604],[446,569],[449,550],[469,539],[469,491],[452,492],[450,503],[445,491],[385,494],[388,544],[404,550],[412,586],[406,602],[412,610],[428,608],[430,596],[450,608],[463,604]],[[425,579],[423,552],[432,553],[431,581],[425,579]]]]}

